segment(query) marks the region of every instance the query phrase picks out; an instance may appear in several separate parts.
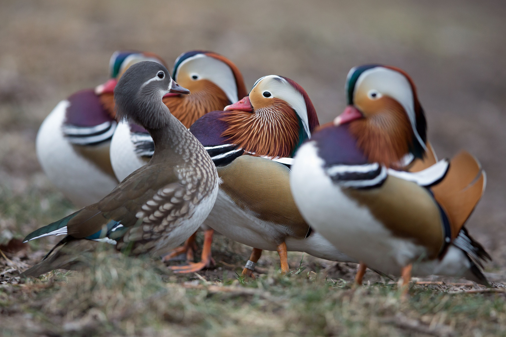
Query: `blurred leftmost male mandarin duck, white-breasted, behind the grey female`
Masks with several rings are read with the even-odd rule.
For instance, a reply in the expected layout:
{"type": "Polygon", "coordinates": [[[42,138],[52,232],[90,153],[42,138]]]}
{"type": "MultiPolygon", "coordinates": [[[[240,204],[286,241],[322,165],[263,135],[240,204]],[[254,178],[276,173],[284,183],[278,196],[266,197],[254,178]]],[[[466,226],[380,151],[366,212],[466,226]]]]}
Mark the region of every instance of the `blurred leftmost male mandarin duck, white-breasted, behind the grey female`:
{"type": "Polygon", "coordinates": [[[115,52],[109,81],[70,95],[40,125],[36,140],[40,166],[78,207],[98,202],[118,184],[109,160],[116,127],[113,90],[123,72],[140,61],[164,64],[151,53],[115,52]]]}

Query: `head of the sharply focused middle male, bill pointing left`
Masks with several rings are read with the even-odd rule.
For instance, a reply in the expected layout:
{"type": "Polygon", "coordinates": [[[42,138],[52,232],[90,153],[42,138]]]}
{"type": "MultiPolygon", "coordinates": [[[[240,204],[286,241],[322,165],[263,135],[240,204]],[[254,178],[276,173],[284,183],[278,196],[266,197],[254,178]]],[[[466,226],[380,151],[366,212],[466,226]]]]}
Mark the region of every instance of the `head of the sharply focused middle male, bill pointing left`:
{"type": "Polygon", "coordinates": [[[319,125],[313,103],[293,80],[264,76],[245,98],[225,107],[222,134],[258,156],[291,157],[319,125]]]}

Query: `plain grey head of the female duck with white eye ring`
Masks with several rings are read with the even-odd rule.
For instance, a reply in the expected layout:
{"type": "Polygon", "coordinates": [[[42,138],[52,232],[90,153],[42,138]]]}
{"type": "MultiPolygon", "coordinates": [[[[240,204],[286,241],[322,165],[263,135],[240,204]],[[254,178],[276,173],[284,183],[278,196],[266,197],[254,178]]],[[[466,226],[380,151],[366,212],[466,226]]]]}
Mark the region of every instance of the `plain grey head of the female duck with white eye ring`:
{"type": "Polygon", "coordinates": [[[162,128],[170,121],[170,111],[162,102],[167,92],[190,93],[172,79],[163,65],[151,61],[135,63],[114,88],[117,117],[148,130],[162,128]]]}

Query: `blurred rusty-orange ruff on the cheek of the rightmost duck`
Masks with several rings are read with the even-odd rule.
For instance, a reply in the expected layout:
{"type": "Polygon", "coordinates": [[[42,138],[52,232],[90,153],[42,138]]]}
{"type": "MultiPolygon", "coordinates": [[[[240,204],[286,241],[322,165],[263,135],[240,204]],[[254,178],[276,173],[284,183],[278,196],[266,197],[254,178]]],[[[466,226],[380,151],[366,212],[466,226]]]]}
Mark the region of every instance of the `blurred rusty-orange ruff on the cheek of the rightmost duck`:
{"type": "Polygon", "coordinates": [[[350,123],[350,132],[370,162],[399,168],[398,162],[409,152],[413,131],[404,108],[384,96],[377,100],[357,97],[356,106],[365,118],[350,123]]]}

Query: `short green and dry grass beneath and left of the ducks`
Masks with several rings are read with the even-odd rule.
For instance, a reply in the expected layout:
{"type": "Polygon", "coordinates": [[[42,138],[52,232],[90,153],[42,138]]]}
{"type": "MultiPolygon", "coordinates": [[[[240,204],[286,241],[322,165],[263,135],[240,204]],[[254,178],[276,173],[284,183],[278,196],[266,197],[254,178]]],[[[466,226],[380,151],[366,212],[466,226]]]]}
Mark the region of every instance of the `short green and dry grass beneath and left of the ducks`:
{"type": "MultiPolygon", "coordinates": [[[[29,186],[0,188],[2,233],[21,237],[71,211],[58,193],[29,186]]],[[[46,240],[6,253],[12,264],[0,257],[2,336],[506,335],[503,292],[452,294],[449,285],[414,284],[403,300],[395,282],[368,272],[367,285],[355,288],[353,265],[329,266],[302,253],[290,253],[292,271],[281,275],[277,254],[264,252],[261,274],[245,279],[248,248],[222,236],[213,246],[216,268],[198,275],[104,245],[82,272],[8,279],[40,259],[54,244],[46,240]]]]}

